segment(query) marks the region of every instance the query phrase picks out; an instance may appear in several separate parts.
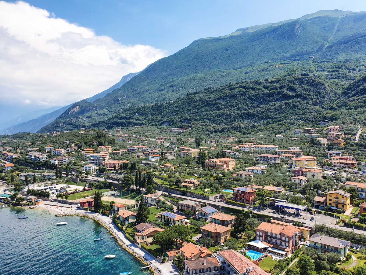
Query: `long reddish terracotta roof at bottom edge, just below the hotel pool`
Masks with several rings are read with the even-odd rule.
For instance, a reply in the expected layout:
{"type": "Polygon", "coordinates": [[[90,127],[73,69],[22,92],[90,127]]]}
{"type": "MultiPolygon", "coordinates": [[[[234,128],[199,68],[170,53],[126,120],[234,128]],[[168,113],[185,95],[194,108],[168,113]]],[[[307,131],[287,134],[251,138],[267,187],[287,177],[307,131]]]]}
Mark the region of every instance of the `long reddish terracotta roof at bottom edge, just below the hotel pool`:
{"type": "Polygon", "coordinates": [[[250,272],[251,275],[269,275],[262,268],[258,267],[258,265],[235,250],[222,250],[217,253],[234,267],[239,274],[244,273],[247,268],[253,267],[253,271],[250,272]]]}

